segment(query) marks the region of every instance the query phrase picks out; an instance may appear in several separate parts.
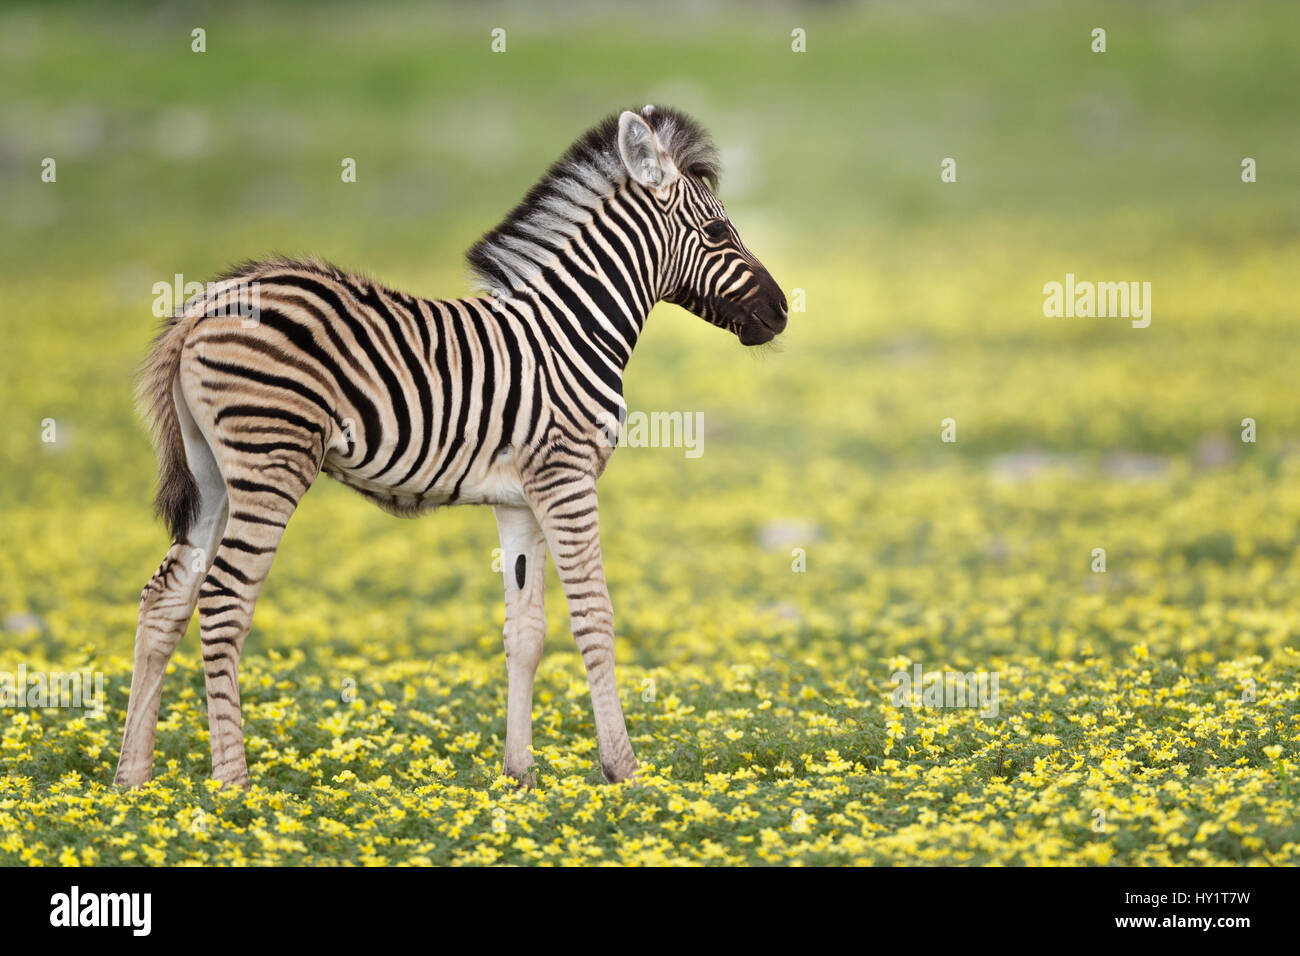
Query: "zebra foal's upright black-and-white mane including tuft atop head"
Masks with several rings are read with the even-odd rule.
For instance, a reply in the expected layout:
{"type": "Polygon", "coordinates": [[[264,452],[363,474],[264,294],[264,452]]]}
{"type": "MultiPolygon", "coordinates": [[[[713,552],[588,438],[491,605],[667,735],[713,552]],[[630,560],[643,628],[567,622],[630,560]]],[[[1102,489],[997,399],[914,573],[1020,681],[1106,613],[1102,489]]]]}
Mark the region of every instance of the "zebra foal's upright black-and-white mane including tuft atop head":
{"type": "MultiPolygon", "coordinates": [[[[523,286],[592,220],[592,211],[628,181],[619,156],[619,116],[584,133],[502,222],[465,252],[481,290],[499,294],[523,286]]],[[[685,113],[646,107],[641,117],[682,173],[716,190],[722,166],[705,129],[685,113]]]]}

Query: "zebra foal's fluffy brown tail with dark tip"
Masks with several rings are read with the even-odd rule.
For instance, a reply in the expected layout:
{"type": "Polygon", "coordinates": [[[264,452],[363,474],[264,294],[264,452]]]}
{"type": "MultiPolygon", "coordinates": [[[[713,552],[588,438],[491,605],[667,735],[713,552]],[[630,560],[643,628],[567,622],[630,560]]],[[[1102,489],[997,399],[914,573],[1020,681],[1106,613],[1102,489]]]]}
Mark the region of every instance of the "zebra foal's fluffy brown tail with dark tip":
{"type": "Polygon", "coordinates": [[[185,455],[185,438],[173,386],[181,367],[181,349],[192,320],[183,312],[164,320],[140,369],[136,397],[150,423],[159,457],[157,515],[174,541],[185,541],[199,516],[199,483],[185,455]]]}

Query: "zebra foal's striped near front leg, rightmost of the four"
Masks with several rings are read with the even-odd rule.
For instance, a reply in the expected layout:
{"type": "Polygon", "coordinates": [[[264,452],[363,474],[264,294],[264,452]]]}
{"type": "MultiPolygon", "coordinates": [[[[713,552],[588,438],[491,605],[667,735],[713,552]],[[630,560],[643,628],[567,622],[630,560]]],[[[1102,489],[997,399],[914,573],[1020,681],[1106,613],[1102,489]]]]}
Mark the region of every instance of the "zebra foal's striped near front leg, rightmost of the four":
{"type": "Polygon", "coordinates": [[[614,678],[614,606],[601,559],[595,479],[581,475],[572,483],[552,484],[551,490],[534,502],[534,512],[564,585],[573,640],[586,665],[601,771],[610,783],[619,783],[637,771],[637,758],[628,740],[614,678]]]}

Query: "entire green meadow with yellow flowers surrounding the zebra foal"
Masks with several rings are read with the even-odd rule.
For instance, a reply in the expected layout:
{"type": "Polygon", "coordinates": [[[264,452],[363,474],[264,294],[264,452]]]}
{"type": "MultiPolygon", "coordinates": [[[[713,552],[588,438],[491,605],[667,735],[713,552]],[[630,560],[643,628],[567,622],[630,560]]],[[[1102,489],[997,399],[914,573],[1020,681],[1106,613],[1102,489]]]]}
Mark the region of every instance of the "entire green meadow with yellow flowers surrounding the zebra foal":
{"type": "Polygon", "coordinates": [[[640,25],[510,21],[493,60],[469,8],[238,9],[207,60],[161,14],[0,14],[0,675],[104,687],[100,713],[0,710],[0,865],[1300,861],[1286,5],[1110,5],[1109,60],[1008,3],[946,31],[801,8],[790,61],[774,8],[694,21],[673,66],[640,25]],[[155,778],[114,790],[166,549],[131,405],[152,284],[285,251],[460,294],[460,250],[651,98],[714,129],[722,198],[806,311],[755,354],[663,306],[632,362],[633,411],[705,427],[601,485],[637,782],[599,782],[554,572],[516,791],[490,512],[400,522],[321,481],[243,656],[251,790],[208,780],[196,626],[155,778]],[[1150,325],[1044,317],[1067,272],[1150,281],[1150,325]],[[996,675],[996,708],[901,700],[918,667],[996,675]]]}

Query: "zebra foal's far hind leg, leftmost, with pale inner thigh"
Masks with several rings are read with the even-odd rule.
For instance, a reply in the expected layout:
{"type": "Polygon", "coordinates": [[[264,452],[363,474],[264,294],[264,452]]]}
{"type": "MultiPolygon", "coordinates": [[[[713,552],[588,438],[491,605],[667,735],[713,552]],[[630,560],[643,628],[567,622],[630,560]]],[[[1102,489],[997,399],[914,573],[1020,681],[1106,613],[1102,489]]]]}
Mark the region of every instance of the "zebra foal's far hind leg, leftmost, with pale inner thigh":
{"type": "Polygon", "coordinates": [[[113,777],[113,782],[122,787],[138,787],[153,773],[162,676],[172,652],[194,617],[199,585],[212,564],[226,523],[226,489],[216,459],[192,420],[182,415],[182,421],[186,458],[199,485],[199,518],[186,540],[172,545],[140,594],[131,696],[126,705],[122,753],[113,777]]]}

